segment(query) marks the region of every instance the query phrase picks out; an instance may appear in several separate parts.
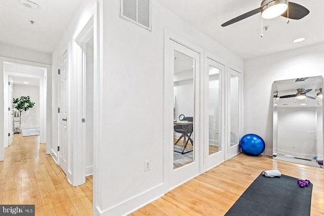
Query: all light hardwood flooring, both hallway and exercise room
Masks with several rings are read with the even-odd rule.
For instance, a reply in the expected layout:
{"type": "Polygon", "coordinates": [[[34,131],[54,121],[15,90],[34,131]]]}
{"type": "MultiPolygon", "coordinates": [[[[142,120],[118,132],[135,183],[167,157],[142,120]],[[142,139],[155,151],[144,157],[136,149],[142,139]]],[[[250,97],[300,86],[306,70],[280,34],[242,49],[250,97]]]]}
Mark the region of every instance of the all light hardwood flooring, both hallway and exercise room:
{"type": "MultiPolygon", "coordinates": [[[[64,172],[46,155],[39,137],[14,136],[0,162],[0,203],[35,204],[35,215],[92,215],[92,177],[72,187],[64,172]]],[[[324,215],[324,169],[273,160],[267,156],[237,155],[131,215],[224,215],[262,170],[313,183],[311,215],[324,215]]]]}

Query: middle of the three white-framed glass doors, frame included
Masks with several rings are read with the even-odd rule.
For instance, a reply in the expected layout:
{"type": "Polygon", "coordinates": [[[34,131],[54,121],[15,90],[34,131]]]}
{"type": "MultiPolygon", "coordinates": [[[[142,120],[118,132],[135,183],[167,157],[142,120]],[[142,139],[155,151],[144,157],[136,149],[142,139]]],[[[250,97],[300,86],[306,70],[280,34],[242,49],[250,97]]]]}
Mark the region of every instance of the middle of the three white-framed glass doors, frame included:
{"type": "Polygon", "coordinates": [[[205,60],[204,156],[207,169],[224,161],[224,72],[225,66],[205,60]]]}

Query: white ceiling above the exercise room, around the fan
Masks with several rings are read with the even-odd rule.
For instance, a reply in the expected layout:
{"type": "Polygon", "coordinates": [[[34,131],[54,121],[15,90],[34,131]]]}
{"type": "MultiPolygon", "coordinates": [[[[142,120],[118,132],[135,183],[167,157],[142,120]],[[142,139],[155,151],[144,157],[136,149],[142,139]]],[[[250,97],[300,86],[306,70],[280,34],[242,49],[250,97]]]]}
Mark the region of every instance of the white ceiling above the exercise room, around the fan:
{"type": "Polygon", "coordinates": [[[224,22],[260,8],[261,0],[157,0],[200,31],[215,39],[243,59],[250,59],[280,51],[318,44],[324,41],[324,3],[320,0],[292,0],[306,7],[310,13],[301,20],[277,17],[263,20],[269,26],[261,37],[261,14],[227,27],[224,22]],[[306,37],[294,44],[293,39],[306,37]]]}

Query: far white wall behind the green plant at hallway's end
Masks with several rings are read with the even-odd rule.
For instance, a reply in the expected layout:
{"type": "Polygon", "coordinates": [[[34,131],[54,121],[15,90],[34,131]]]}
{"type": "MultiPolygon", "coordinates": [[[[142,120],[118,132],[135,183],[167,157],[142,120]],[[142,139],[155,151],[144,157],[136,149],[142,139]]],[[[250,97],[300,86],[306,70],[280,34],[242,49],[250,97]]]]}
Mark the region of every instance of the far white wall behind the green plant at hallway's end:
{"type": "MultiPolygon", "coordinates": [[[[30,85],[13,85],[13,98],[20,98],[21,96],[30,96],[30,100],[35,103],[33,108],[21,112],[21,129],[39,127],[39,87],[30,85]]],[[[13,105],[15,107],[15,104],[13,105]]]]}

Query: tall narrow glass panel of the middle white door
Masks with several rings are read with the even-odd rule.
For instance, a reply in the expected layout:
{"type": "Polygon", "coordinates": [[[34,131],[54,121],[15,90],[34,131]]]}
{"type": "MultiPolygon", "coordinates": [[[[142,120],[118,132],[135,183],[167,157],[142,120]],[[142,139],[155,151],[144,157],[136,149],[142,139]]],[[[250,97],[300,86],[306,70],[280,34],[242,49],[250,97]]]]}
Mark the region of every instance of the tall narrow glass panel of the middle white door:
{"type": "Polygon", "coordinates": [[[209,66],[209,155],[221,151],[220,131],[220,70],[209,66]]]}

